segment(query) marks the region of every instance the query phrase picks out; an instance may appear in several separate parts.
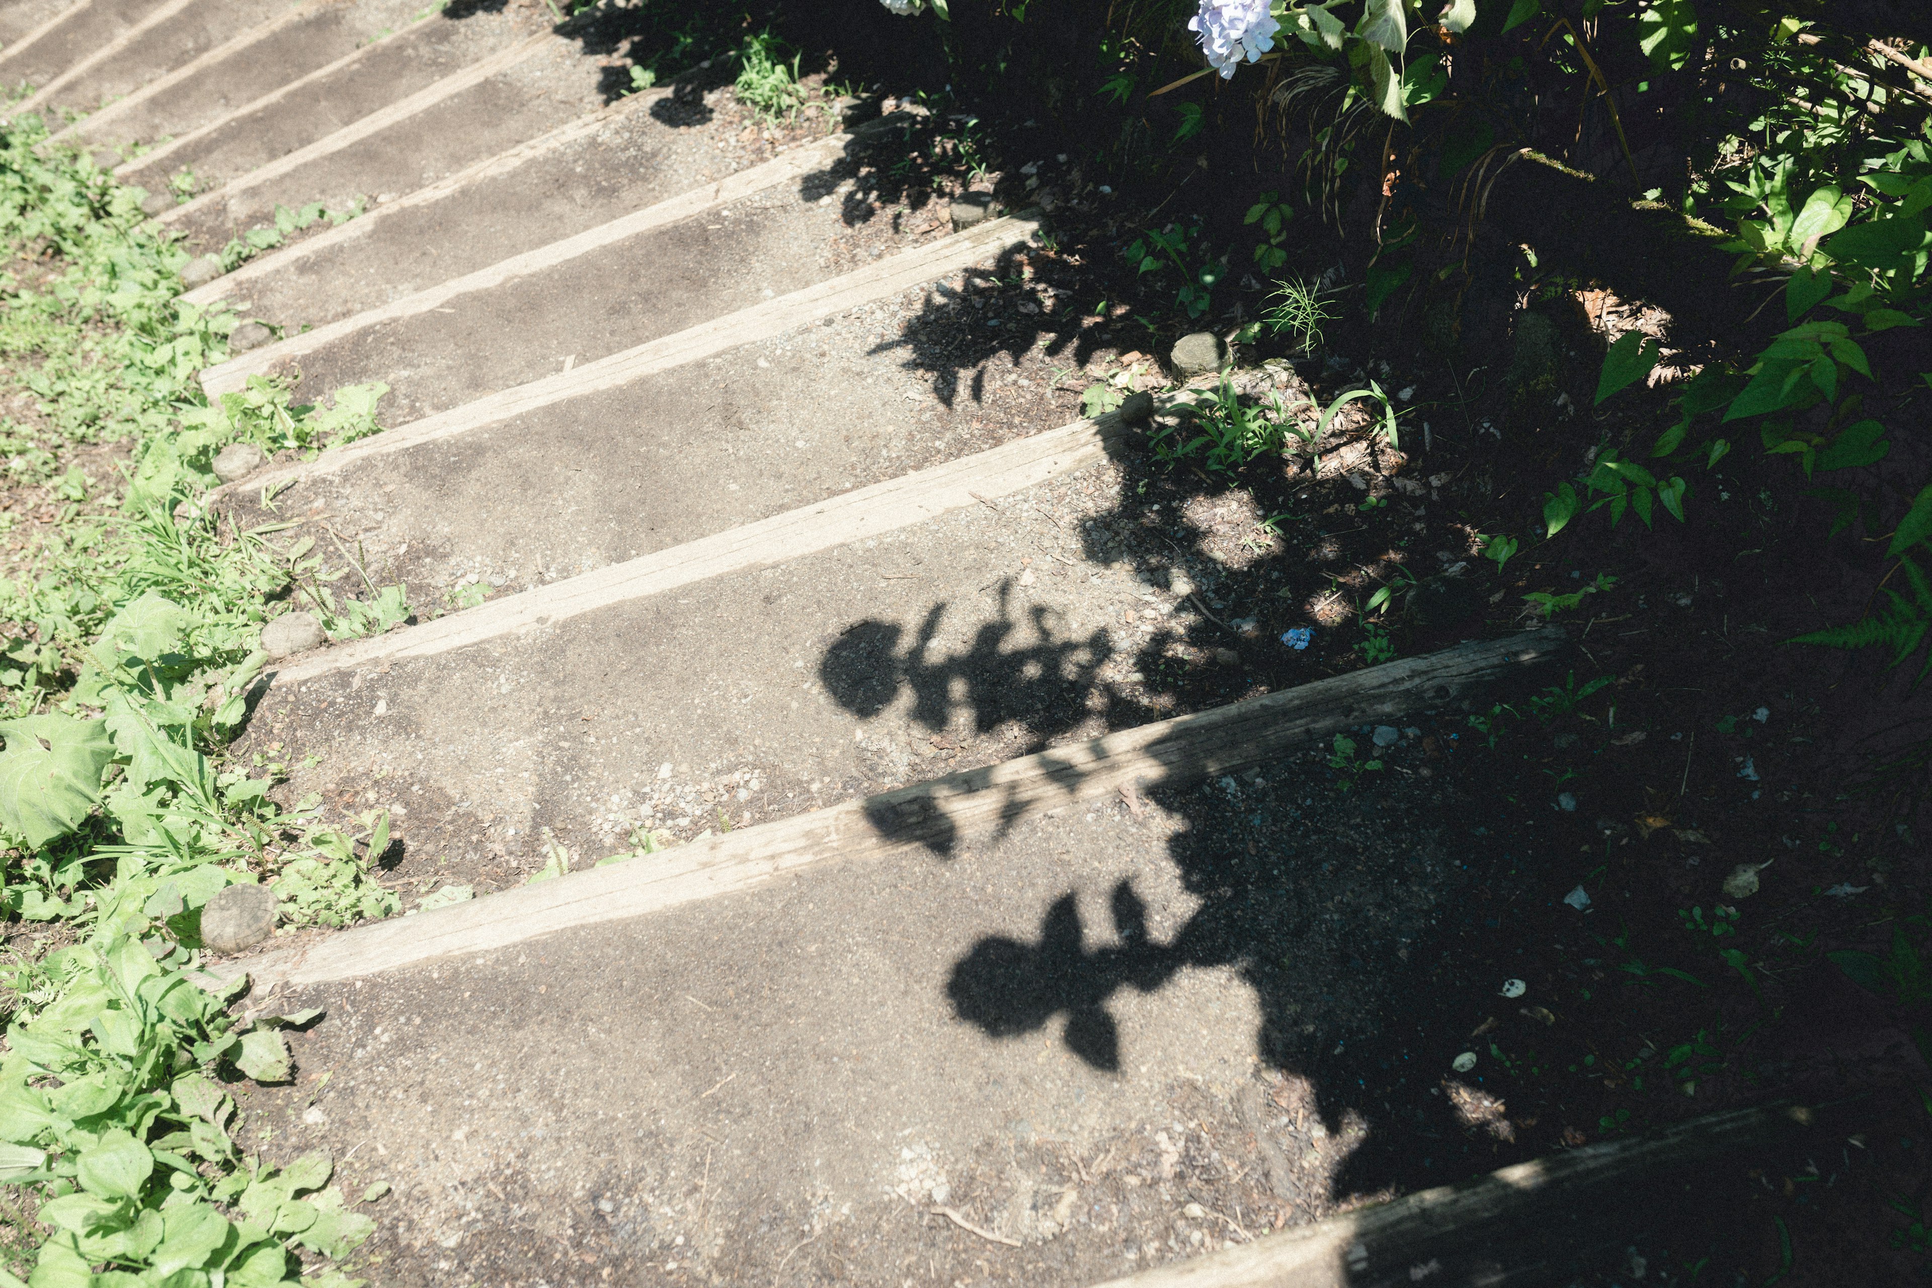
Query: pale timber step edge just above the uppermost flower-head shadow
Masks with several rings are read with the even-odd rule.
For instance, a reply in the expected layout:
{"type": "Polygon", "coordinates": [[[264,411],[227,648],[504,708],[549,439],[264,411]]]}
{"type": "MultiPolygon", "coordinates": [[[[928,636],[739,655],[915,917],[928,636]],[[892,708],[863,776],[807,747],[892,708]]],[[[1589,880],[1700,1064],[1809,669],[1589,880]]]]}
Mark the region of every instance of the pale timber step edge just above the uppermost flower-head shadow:
{"type": "Polygon", "coordinates": [[[711,537],[504,595],[421,626],[336,645],[272,670],[269,684],[280,689],[375,660],[468,649],[696,581],[767,568],[862,537],[912,527],[1086,469],[1121,433],[1119,413],[1074,421],[711,537]]]}

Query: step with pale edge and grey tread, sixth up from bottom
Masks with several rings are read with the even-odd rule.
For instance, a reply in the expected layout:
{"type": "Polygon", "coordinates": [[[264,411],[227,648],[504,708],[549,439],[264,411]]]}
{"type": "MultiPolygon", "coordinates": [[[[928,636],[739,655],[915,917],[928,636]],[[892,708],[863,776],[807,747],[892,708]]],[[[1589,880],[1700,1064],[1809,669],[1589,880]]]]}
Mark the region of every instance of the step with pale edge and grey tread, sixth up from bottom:
{"type": "Polygon", "coordinates": [[[694,193],[752,164],[734,133],[690,127],[701,116],[728,112],[728,91],[699,102],[674,100],[672,93],[667,87],[618,98],[338,228],[251,259],[185,299],[226,299],[245,317],[276,326],[325,326],[694,193]]]}

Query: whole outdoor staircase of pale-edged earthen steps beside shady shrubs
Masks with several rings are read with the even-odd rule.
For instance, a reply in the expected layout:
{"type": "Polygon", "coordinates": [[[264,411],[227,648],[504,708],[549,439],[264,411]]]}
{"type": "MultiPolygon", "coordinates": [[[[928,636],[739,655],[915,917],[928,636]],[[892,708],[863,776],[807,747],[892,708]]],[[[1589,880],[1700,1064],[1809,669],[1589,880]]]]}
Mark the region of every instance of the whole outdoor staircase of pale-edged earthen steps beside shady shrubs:
{"type": "Polygon", "coordinates": [[[1401,983],[1283,830],[1306,751],[1557,631],[1151,695],[1256,645],[1132,425],[1066,423],[1036,353],[943,365],[1037,222],[873,218],[893,122],[773,153],[715,71],[612,102],[541,6],[21,0],[0,44],[15,114],[81,114],[197,251],[367,203],[187,299],[276,336],[211,394],[390,386],[213,502],[408,583],[419,624],[280,662],[243,747],[388,807],[408,904],[477,892],[238,962],[327,1008],[247,1112],[394,1186],[369,1276],[1078,1284],[1333,1207],[1362,1128],[1283,1074],[1293,996],[1401,983]],[[638,830],[682,844],[593,867],[638,830]]]}

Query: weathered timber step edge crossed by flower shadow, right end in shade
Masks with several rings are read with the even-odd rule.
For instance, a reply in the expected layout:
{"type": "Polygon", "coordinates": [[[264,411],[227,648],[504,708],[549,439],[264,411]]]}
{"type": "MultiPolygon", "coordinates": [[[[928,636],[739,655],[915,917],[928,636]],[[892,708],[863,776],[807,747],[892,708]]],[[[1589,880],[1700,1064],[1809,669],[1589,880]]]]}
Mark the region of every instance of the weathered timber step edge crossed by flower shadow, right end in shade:
{"type": "Polygon", "coordinates": [[[1565,647],[1567,637],[1557,628],[1470,641],[699,838],[663,855],[340,931],[301,948],[222,964],[214,973],[226,979],[247,973],[251,989],[265,996],[280,985],[355,979],[456,954],[491,952],[601,921],[641,917],[750,890],[829,859],[952,852],[962,840],[1003,834],[1045,809],[1115,792],[1186,786],[1269,761],[1339,728],[1447,703],[1505,672],[1549,662],[1565,647]]]}

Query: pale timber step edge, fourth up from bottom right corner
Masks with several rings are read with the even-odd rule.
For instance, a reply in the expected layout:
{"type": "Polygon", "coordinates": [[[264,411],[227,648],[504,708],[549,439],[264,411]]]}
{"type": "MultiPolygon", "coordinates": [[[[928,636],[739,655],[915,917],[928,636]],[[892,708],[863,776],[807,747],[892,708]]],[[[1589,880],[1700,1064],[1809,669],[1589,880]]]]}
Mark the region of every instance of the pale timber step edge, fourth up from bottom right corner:
{"type": "Polygon", "coordinates": [[[738,309],[699,326],[659,336],[630,350],[620,350],[609,357],[599,357],[583,367],[574,367],[539,380],[516,384],[495,394],[485,394],[473,402],[427,415],[381,434],[361,438],[342,448],[323,452],[313,462],[270,469],[267,473],[224,483],[209,492],[207,500],[218,502],[242,489],[263,489],[299,479],[336,473],[377,456],[404,452],[425,442],[454,438],[489,425],[527,415],[572,398],[599,394],[620,388],[647,375],[670,371],[686,363],[713,357],[742,344],[753,344],[771,336],[806,326],[835,313],[856,309],[877,299],[896,295],[941,278],[958,268],[966,268],[989,253],[1003,251],[1034,236],[1039,228],[1030,216],[1005,216],[987,220],[970,232],[952,234],[914,251],[887,255],[864,268],[819,282],[777,299],[738,309]]]}

